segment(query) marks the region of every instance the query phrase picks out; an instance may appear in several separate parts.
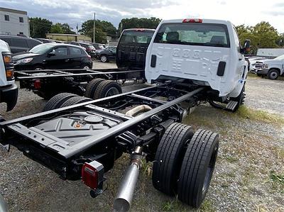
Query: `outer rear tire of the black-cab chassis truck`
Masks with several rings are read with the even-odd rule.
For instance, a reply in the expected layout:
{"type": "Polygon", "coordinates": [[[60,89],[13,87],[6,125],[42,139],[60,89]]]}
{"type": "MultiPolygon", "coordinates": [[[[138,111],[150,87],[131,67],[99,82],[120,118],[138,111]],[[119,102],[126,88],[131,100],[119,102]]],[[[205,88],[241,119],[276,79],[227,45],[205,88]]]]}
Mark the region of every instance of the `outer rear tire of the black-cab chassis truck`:
{"type": "Polygon", "coordinates": [[[95,89],[94,91],[92,99],[101,99],[107,96],[114,96],[121,93],[121,86],[117,82],[104,80],[98,84],[97,89],[95,89]]]}

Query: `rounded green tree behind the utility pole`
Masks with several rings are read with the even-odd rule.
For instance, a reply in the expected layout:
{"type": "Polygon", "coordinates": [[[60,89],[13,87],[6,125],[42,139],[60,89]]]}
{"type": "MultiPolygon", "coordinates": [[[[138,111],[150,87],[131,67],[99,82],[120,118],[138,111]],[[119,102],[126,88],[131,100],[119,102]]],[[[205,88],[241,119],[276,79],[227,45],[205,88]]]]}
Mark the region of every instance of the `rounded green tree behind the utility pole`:
{"type": "MultiPolygon", "coordinates": [[[[82,23],[80,33],[93,38],[94,35],[94,20],[88,20],[82,23]]],[[[107,35],[111,37],[116,36],[116,28],[108,21],[96,20],[96,42],[107,43],[107,35]]]]}

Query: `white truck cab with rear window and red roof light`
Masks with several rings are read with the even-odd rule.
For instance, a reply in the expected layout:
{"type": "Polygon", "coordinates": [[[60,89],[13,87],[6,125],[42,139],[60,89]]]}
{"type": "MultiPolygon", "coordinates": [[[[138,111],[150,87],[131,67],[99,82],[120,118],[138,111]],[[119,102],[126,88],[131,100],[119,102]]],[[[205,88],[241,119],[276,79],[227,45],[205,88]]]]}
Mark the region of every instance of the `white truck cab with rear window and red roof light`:
{"type": "Polygon", "coordinates": [[[236,111],[244,101],[248,62],[236,28],[229,21],[179,19],[162,21],[146,56],[149,83],[172,80],[207,86],[207,100],[236,111]]]}

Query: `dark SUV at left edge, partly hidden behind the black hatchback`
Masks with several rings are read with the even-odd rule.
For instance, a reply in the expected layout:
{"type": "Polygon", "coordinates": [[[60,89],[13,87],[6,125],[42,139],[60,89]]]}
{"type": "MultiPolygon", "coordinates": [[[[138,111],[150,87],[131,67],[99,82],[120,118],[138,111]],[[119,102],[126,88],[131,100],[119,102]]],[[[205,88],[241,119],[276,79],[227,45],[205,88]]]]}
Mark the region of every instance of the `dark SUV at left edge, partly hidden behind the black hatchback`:
{"type": "Polygon", "coordinates": [[[9,44],[12,53],[26,52],[35,47],[35,45],[41,44],[39,40],[24,38],[17,35],[0,35],[0,39],[9,44]]]}

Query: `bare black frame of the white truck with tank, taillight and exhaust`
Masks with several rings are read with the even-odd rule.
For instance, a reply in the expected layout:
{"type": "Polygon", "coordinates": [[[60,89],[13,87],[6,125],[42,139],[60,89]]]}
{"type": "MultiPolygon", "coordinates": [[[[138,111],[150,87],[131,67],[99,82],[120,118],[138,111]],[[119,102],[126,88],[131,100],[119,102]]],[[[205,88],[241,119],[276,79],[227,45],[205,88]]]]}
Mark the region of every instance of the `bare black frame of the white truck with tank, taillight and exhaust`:
{"type": "MultiPolygon", "coordinates": [[[[165,140],[163,137],[168,136],[167,129],[182,130],[186,125],[173,124],[181,122],[189,108],[200,104],[205,93],[204,87],[180,89],[178,84],[165,82],[125,94],[55,108],[1,122],[0,143],[17,147],[27,157],[60,174],[62,179],[82,179],[92,189],[92,196],[103,191],[103,173],[114,166],[114,161],[122,153],[129,153],[130,167],[114,201],[117,211],[128,211],[142,157],[146,156],[148,161],[155,160],[160,140],[165,140]],[[131,185],[131,188],[126,185],[131,185]]],[[[205,132],[204,135],[206,133],[208,134],[205,132]]],[[[211,136],[212,133],[208,135],[211,136]]],[[[192,135],[184,137],[186,142],[179,144],[184,146],[180,152],[169,154],[181,155],[179,158],[186,154],[185,148],[192,135]]],[[[212,142],[211,138],[203,139],[212,142]]],[[[171,143],[175,144],[176,141],[171,143]]],[[[209,156],[216,160],[217,149],[214,152],[214,157],[209,156]]],[[[215,160],[210,162],[209,170],[213,170],[215,160]]],[[[181,163],[178,162],[175,166],[180,167],[181,163]]],[[[210,171],[211,174],[212,172],[210,171]]],[[[178,179],[173,179],[173,184],[177,182],[178,179]]],[[[163,188],[155,187],[163,191],[163,188]]],[[[200,206],[200,203],[192,203],[192,206],[200,206]]]]}

